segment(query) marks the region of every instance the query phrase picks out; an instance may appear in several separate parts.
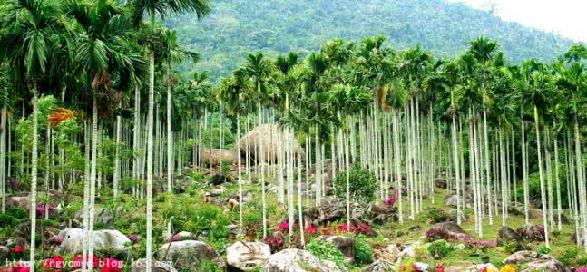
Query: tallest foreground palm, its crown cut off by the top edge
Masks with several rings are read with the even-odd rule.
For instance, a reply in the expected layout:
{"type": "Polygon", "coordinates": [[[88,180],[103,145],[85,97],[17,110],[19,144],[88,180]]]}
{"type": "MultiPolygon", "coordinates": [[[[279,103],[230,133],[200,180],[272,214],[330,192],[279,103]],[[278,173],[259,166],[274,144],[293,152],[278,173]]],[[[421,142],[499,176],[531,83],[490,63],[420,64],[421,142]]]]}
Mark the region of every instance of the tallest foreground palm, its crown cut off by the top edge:
{"type": "MultiPolygon", "coordinates": [[[[152,33],[155,30],[155,16],[164,18],[167,15],[180,15],[194,12],[199,20],[210,14],[209,0],[131,0],[130,5],[135,24],[142,21],[142,16],[149,15],[152,33]]],[[[155,52],[149,53],[149,111],[147,117],[147,272],[151,272],[152,264],[152,159],[153,159],[153,110],[155,88],[155,52]]]]}

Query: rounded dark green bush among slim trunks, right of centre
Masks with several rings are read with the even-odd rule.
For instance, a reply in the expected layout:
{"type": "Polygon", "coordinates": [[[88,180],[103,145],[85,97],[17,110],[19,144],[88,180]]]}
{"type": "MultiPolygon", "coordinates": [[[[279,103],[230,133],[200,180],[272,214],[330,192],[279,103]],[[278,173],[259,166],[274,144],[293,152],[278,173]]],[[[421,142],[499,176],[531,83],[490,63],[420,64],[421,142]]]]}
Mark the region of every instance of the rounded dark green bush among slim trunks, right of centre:
{"type": "MultiPolygon", "coordinates": [[[[337,174],[335,183],[335,194],[341,201],[347,199],[347,172],[337,174]]],[[[353,201],[369,203],[375,199],[377,190],[377,178],[367,170],[361,169],[358,164],[353,165],[349,173],[349,191],[353,201]]]]}

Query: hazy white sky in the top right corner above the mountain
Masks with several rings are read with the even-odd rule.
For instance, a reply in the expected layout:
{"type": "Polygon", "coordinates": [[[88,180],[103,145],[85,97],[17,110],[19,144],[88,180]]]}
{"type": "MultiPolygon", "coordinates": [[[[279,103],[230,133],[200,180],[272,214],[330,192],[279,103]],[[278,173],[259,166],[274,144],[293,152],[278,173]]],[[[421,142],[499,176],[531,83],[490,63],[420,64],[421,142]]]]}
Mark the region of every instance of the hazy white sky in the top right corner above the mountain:
{"type": "Polygon", "coordinates": [[[504,21],[587,42],[587,0],[449,0],[477,8],[495,7],[504,21]]]}

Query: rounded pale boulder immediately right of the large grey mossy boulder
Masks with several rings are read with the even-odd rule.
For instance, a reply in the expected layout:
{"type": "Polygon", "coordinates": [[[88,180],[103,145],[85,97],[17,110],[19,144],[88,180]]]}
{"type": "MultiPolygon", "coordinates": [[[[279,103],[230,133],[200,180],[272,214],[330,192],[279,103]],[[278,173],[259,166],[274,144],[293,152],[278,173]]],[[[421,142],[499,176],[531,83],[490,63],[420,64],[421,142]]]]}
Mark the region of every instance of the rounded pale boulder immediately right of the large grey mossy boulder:
{"type": "Polygon", "coordinates": [[[252,271],[271,256],[269,245],[261,242],[235,242],[226,248],[227,265],[237,271],[252,271]]]}

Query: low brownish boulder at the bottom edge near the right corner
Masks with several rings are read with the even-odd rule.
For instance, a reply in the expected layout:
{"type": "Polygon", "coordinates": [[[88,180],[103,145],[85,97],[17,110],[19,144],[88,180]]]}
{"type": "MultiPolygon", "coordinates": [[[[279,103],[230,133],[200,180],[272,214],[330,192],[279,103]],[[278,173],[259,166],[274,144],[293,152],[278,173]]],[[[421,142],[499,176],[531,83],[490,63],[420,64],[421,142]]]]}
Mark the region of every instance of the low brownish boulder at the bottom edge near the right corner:
{"type": "Polygon", "coordinates": [[[504,264],[521,266],[520,272],[571,272],[571,268],[554,257],[529,250],[515,252],[504,260],[504,264]]]}

